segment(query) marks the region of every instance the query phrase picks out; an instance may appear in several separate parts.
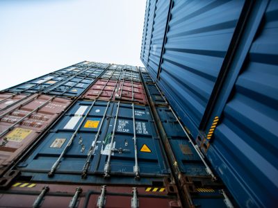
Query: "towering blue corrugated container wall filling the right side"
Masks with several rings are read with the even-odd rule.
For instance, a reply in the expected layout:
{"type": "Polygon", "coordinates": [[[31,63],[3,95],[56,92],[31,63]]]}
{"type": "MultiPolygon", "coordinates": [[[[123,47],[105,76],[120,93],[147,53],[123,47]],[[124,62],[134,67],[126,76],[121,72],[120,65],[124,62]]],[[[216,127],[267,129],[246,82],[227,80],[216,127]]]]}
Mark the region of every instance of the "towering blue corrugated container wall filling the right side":
{"type": "Polygon", "coordinates": [[[142,59],[243,207],[277,202],[277,8],[173,1],[162,62],[142,59]]]}

